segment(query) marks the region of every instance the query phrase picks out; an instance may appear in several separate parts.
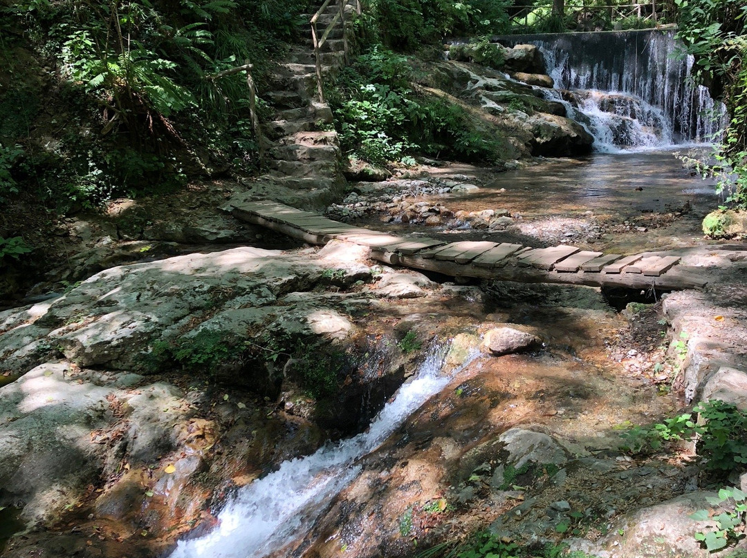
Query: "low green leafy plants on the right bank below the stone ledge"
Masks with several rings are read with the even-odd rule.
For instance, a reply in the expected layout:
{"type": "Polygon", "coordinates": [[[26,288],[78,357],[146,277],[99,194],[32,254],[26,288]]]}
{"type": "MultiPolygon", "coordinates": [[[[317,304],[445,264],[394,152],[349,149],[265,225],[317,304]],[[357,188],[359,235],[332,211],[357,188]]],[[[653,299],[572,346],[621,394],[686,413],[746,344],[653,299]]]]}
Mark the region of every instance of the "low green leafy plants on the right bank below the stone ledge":
{"type": "Polygon", "coordinates": [[[668,442],[697,436],[698,464],[712,477],[717,479],[747,468],[747,415],[724,401],[700,403],[692,413],[651,427],[636,426],[621,436],[624,448],[633,454],[658,451],[668,442]]]}

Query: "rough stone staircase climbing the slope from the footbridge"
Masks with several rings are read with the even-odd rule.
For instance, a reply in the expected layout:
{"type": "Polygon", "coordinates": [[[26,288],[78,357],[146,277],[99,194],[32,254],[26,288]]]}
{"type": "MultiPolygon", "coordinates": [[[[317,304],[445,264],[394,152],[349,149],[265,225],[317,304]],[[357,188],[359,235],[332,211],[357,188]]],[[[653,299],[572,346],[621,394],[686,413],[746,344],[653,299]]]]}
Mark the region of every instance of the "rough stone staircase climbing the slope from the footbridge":
{"type": "MultiPolygon", "coordinates": [[[[317,19],[320,34],[332,22],[338,4],[332,2],[317,19]]],[[[346,13],[354,13],[354,4],[346,13]]],[[[304,16],[310,20],[313,14],[304,16]]],[[[350,20],[350,18],[346,18],[350,20]]],[[[320,48],[322,74],[334,75],[345,63],[344,34],[352,33],[341,22],[330,31],[320,48]]],[[[295,207],[323,207],[341,195],[345,184],[341,173],[342,153],[332,127],[329,104],[318,101],[314,45],[309,37],[293,46],[270,79],[273,88],[260,92],[275,109],[264,122],[267,173],[246,181],[248,192],[229,201],[236,207],[247,201],[272,199],[295,207]]]]}

